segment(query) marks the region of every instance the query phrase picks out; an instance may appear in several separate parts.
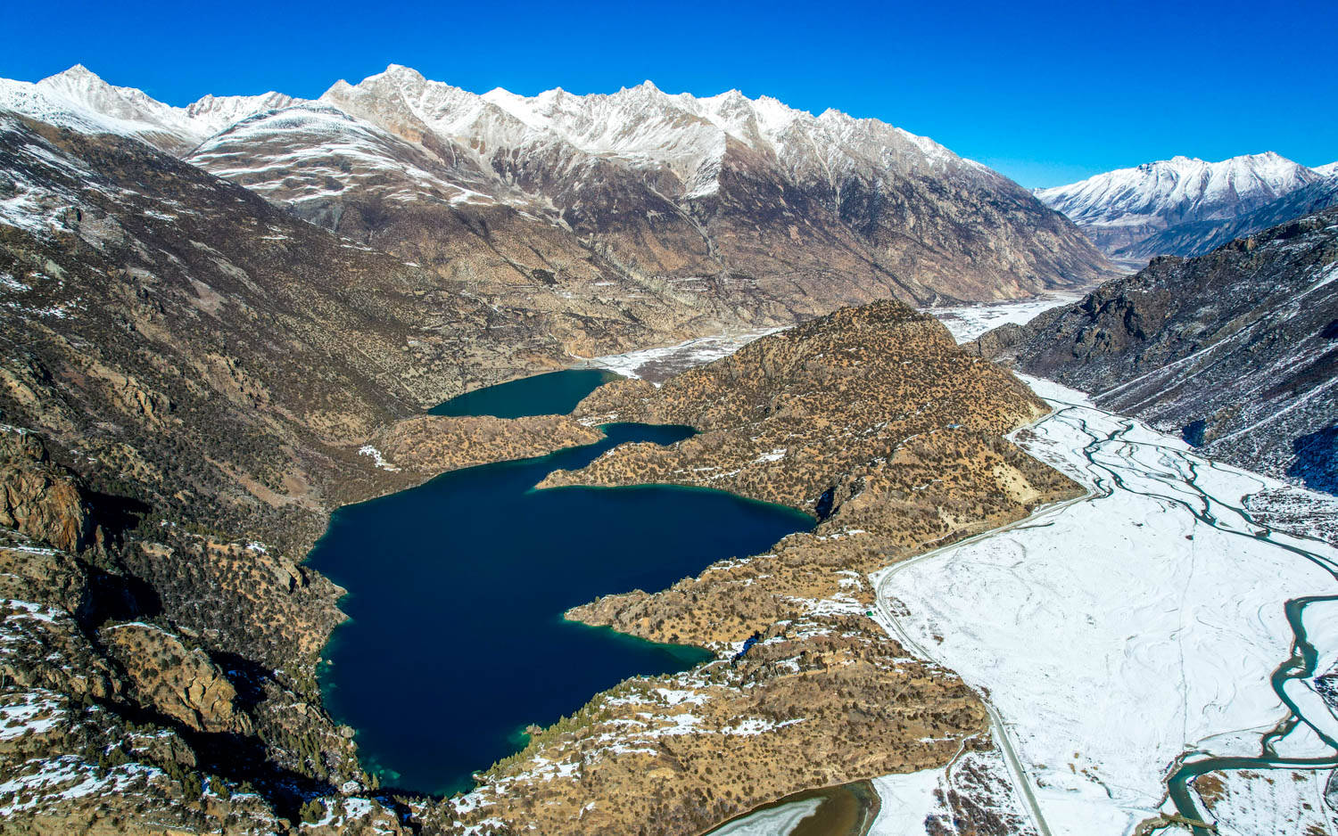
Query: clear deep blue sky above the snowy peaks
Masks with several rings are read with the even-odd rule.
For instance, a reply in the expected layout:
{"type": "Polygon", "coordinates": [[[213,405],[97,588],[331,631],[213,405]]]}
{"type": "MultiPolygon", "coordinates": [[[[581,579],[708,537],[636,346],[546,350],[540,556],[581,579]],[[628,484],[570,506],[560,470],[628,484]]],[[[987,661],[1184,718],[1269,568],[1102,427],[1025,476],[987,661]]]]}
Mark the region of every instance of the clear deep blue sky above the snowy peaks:
{"type": "MultiPolygon", "coordinates": [[[[11,0],[12,1],[12,0],[11,0]]],[[[1338,159],[1338,0],[24,3],[0,76],[185,104],[389,63],[484,92],[739,88],[933,136],[1025,186],[1175,154],[1338,159]]]]}

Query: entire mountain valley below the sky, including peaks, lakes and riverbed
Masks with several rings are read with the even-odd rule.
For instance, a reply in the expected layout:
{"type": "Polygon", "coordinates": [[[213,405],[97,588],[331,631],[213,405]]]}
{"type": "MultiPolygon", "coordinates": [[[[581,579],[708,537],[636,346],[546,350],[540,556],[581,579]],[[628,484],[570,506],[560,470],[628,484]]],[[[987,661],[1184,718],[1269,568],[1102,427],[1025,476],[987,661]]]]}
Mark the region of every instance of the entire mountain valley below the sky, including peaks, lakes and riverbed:
{"type": "Polygon", "coordinates": [[[1334,166],[0,79],[0,835],[1338,833],[1334,166]]]}

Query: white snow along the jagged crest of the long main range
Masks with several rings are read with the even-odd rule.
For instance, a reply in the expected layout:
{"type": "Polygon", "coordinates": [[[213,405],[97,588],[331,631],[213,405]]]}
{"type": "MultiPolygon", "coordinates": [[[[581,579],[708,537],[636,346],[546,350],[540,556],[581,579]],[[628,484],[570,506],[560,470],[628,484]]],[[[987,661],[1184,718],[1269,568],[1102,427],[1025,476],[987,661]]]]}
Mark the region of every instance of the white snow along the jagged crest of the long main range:
{"type": "MultiPolygon", "coordinates": [[[[617,159],[630,167],[665,166],[682,183],[677,198],[719,189],[731,142],[775,159],[792,173],[834,183],[882,167],[986,170],[942,144],[878,119],[827,110],[820,116],[773,98],[737,90],[714,96],[665,94],[650,82],[614,94],[573,95],[561,88],[522,96],[496,88],[478,95],[391,64],[357,84],[336,82],[318,100],[277,92],[205,96],[189,107],[107,84],[82,66],[36,83],[0,80],[0,110],[86,132],[112,132],[183,155],[257,114],[292,106],[336,107],[409,142],[448,147],[491,171],[498,154],[570,154],[571,166],[617,159]],[[435,135],[427,143],[425,134],[435,135]]],[[[459,162],[456,159],[456,162],[459,162]]],[[[987,171],[987,170],[986,170],[987,171]]]]}

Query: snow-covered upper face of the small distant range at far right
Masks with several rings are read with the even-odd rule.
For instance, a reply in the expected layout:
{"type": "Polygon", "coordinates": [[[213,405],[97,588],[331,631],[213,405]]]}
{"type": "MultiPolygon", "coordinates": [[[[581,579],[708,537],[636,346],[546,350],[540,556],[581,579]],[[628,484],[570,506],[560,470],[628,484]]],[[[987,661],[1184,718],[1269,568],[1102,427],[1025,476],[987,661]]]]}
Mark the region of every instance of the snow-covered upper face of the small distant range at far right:
{"type": "Polygon", "coordinates": [[[1323,177],[1272,151],[1215,163],[1175,156],[1038,189],[1036,195],[1068,215],[1107,254],[1136,258],[1156,254],[1140,245],[1161,230],[1232,219],[1323,177]]]}

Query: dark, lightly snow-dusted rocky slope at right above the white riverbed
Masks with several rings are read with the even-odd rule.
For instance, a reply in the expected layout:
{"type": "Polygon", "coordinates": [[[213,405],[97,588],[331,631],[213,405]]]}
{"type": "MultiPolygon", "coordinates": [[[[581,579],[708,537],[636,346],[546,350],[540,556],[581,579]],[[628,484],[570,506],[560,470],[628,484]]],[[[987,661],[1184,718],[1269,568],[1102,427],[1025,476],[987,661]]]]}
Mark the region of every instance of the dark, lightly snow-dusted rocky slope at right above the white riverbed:
{"type": "Polygon", "coordinates": [[[1338,209],[1165,257],[974,348],[1181,432],[1215,459],[1338,488],[1338,209]]]}

